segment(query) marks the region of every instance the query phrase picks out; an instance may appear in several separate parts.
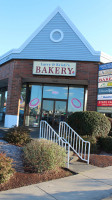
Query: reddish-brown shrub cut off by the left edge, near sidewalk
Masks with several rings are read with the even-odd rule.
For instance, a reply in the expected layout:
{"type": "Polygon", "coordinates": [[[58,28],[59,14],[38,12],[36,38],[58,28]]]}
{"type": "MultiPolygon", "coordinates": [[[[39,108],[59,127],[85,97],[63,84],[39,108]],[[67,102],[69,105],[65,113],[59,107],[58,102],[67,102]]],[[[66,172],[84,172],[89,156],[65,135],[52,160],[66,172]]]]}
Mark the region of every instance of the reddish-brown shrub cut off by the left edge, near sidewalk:
{"type": "Polygon", "coordinates": [[[15,170],[12,168],[13,160],[0,153],[0,184],[8,181],[15,170]]]}

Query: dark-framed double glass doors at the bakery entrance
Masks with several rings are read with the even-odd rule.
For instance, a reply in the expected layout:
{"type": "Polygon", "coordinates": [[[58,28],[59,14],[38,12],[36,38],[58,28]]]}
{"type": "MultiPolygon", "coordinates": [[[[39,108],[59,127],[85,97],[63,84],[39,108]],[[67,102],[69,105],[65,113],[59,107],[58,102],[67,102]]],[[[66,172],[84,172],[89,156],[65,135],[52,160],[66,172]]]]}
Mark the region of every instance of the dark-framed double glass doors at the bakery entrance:
{"type": "Polygon", "coordinates": [[[67,101],[43,100],[42,119],[52,126],[58,126],[60,121],[66,120],[67,101]]]}

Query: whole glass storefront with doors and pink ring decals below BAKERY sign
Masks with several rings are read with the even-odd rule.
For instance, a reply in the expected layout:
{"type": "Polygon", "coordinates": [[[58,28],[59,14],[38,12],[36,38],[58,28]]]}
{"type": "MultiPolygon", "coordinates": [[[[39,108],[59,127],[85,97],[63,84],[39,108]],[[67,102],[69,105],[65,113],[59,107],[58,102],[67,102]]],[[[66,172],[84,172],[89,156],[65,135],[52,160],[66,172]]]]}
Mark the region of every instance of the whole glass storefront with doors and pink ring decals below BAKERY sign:
{"type": "Polygon", "coordinates": [[[24,119],[25,111],[26,126],[39,127],[41,117],[52,126],[59,125],[59,121],[66,121],[68,115],[83,108],[84,88],[81,87],[29,85],[21,92],[20,115],[24,119]]]}

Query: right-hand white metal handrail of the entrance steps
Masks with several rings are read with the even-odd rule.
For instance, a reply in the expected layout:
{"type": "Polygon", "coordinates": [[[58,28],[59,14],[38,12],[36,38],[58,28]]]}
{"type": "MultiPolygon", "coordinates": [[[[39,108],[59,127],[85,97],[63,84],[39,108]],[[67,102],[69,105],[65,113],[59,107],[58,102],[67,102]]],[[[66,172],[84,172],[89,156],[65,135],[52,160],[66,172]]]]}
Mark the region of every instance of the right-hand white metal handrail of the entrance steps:
{"type": "Polygon", "coordinates": [[[83,140],[66,122],[61,121],[59,124],[59,136],[65,138],[70,148],[83,161],[89,164],[90,142],[83,140]]]}

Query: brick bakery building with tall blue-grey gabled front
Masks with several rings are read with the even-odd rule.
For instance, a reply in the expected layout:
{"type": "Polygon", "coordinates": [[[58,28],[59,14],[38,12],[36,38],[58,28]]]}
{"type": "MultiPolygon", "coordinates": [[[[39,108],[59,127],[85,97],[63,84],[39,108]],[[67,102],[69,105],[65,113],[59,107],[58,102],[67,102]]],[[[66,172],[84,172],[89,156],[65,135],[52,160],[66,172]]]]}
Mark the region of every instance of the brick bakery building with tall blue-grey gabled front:
{"type": "Polygon", "coordinates": [[[0,57],[0,125],[39,127],[43,119],[56,126],[73,112],[96,111],[98,66],[111,60],[56,9],[19,49],[0,57]]]}

